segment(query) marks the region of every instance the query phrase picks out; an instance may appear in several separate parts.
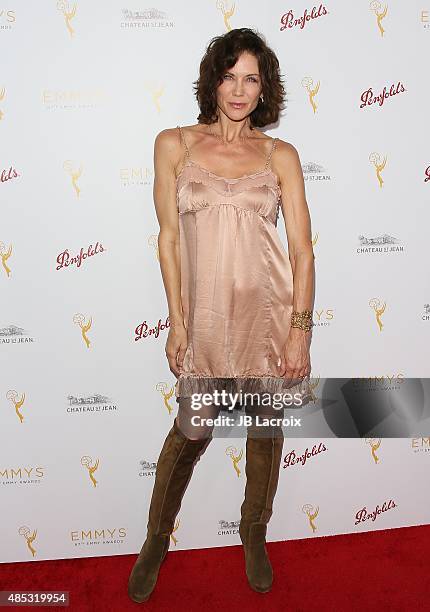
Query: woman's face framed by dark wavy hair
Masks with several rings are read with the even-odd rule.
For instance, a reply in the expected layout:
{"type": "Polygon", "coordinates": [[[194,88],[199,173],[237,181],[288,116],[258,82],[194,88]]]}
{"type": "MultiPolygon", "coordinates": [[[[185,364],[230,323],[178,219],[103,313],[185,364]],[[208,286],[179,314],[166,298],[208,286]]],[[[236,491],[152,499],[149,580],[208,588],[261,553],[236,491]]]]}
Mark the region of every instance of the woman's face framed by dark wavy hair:
{"type": "Polygon", "coordinates": [[[232,121],[241,121],[256,108],[261,93],[257,58],[244,51],[221,78],[217,88],[218,107],[232,121]]]}

